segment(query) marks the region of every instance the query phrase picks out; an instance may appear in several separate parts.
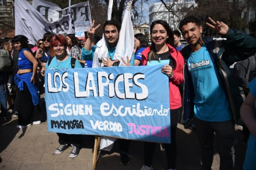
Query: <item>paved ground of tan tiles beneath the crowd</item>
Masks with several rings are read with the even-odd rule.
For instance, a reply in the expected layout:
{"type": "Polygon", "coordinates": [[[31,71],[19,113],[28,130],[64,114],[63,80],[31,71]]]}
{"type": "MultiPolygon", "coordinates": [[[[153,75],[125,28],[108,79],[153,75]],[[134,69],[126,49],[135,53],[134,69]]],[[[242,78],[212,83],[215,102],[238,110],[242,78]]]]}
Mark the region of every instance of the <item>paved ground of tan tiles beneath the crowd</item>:
{"type": "MultiPolygon", "coordinates": [[[[92,170],[94,136],[83,136],[79,156],[72,159],[68,148],[60,155],[54,150],[59,146],[56,133],[47,131],[47,122],[17,129],[17,118],[8,113],[9,119],[0,120],[0,170],[92,170]]],[[[235,170],[242,170],[246,147],[241,144],[242,130],[236,127],[238,139],[235,145],[235,170]]],[[[102,152],[97,161],[97,170],[139,170],[143,166],[143,142],[132,141],[130,145],[131,163],[120,165],[117,153],[118,142],[112,152],[102,152]]],[[[215,151],[212,170],[219,169],[220,159],[215,151]]],[[[201,166],[201,154],[195,131],[177,129],[177,170],[196,170],[201,166]]],[[[154,170],[167,170],[165,151],[157,144],[154,153],[154,170]]]]}

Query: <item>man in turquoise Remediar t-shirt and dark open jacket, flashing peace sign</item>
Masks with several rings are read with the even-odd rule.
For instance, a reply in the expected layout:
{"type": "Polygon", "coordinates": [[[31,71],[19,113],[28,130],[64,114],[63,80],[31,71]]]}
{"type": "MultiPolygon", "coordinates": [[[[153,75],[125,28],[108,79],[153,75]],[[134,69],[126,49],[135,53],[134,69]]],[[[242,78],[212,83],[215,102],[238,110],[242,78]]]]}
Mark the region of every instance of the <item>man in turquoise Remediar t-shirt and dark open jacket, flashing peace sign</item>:
{"type": "Polygon", "coordinates": [[[211,170],[214,136],[220,169],[233,170],[233,145],[237,142],[234,124],[239,118],[243,99],[228,66],[255,53],[256,40],[222,22],[209,20],[213,25],[206,23],[207,26],[227,40],[203,40],[202,26],[196,17],[189,16],[180,21],[181,34],[189,43],[181,51],[185,59],[183,122],[195,120],[202,170],[211,170]]]}

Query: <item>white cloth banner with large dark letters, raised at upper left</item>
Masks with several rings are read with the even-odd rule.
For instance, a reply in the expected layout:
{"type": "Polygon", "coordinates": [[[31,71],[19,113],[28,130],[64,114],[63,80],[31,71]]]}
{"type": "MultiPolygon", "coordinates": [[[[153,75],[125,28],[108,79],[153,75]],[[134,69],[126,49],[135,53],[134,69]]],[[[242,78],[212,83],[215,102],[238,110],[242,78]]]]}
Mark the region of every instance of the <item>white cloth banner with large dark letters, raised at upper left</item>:
{"type": "MultiPolygon", "coordinates": [[[[42,39],[46,32],[69,33],[70,15],[64,13],[65,10],[57,5],[48,3],[43,0],[33,0],[35,7],[33,8],[26,0],[15,0],[15,35],[24,35],[30,42],[35,43],[42,39]],[[46,4],[39,5],[42,2],[46,4]]],[[[79,3],[71,7],[76,10],[74,12],[76,31],[79,31],[79,28],[87,30],[92,23],[89,3],[79,3]]]]}

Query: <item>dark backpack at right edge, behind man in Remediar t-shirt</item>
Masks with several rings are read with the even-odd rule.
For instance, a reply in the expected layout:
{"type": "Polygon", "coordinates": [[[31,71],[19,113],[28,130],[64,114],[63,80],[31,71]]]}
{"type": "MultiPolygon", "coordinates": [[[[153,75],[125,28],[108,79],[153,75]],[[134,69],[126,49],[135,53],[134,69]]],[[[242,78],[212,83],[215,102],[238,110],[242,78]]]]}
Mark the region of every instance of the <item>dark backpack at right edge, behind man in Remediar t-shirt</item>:
{"type": "Polygon", "coordinates": [[[234,65],[234,79],[241,88],[248,88],[248,83],[256,77],[256,54],[234,65]]]}

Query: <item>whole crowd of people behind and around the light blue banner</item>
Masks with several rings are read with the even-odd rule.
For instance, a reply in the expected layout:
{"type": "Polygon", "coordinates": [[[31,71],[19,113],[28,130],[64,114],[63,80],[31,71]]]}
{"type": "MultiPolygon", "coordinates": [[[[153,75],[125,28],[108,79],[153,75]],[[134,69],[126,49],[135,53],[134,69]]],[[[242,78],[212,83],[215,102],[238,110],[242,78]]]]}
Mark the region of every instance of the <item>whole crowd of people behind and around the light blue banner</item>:
{"type": "MultiPolygon", "coordinates": [[[[213,161],[213,141],[217,142],[220,155],[220,170],[234,168],[235,137],[234,126],[241,117],[250,130],[244,170],[256,169],[256,79],[248,85],[250,92],[243,103],[239,87],[233,79],[230,65],[256,53],[256,40],[243,31],[229,28],[225,23],[209,18],[207,26],[214,29],[225,40],[203,39],[201,22],[196,17],[185,17],[180,21],[180,31],[172,31],[163,20],[151,23],[151,45],[148,46],[145,35],[134,35],[134,54],[125,60],[123,66],[145,66],[164,64],[161,72],[169,77],[169,98],[171,117],[171,143],[164,144],[169,170],[176,170],[177,146],[176,130],[182,111],[184,123],[195,128],[201,147],[201,170],[211,170],[213,161]],[[180,42],[181,35],[188,45],[180,42]],[[182,88],[180,88],[182,87],[182,88]],[[243,104],[242,104],[243,103],[243,104]],[[241,111],[240,111],[241,109],[241,111]]],[[[103,26],[107,42],[107,58],[100,58],[96,51],[100,37],[95,31],[100,25],[87,31],[87,40],[83,47],[74,34],[44,34],[38,40],[36,49],[29,45],[23,35],[6,38],[4,50],[12,59],[12,71],[0,72],[0,117],[7,118],[7,105],[18,117],[17,128],[40,124],[42,105],[40,94],[44,93],[44,72],[46,69],[87,68],[99,62],[98,67],[120,66],[114,60],[119,41],[120,23],[108,20],[103,26]],[[32,51],[31,49],[35,49],[32,51]],[[93,63],[94,62],[94,63],[93,63]],[[7,88],[8,77],[15,82],[16,93],[7,88]],[[41,82],[41,85],[40,85],[41,82]]],[[[81,135],[57,133],[60,147],[55,154],[73,149],[70,158],[78,156],[81,149],[81,135]]],[[[130,140],[118,139],[120,163],[127,165],[130,140]]],[[[140,170],[152,170],[154,142],[144,142],[144,165],[140,170]]]]}

